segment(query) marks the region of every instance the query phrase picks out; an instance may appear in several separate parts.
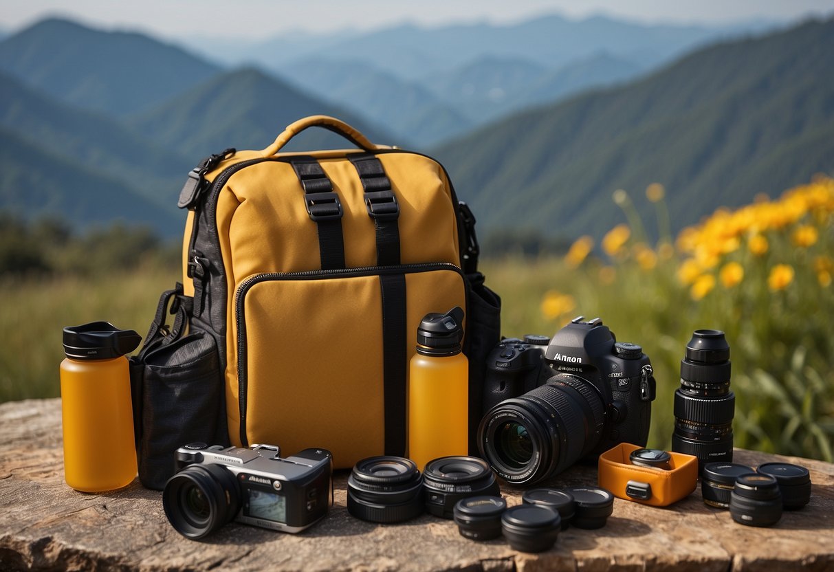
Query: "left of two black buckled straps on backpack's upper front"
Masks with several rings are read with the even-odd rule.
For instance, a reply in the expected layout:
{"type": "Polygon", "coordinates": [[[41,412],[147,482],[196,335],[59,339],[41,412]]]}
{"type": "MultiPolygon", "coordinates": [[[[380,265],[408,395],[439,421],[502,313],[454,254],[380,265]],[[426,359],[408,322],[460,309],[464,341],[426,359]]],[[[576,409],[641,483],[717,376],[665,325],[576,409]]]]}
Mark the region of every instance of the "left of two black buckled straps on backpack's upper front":
{"type": "Polygon", "coordinates": [[[307,213],[318,225],[321,269],[344,268],[344,211],[339,195],[333,192],[333,183],[313,157],[293,157],[289,159],[289,164],[293,166],[301,188],[304,189],[307,213]]]}

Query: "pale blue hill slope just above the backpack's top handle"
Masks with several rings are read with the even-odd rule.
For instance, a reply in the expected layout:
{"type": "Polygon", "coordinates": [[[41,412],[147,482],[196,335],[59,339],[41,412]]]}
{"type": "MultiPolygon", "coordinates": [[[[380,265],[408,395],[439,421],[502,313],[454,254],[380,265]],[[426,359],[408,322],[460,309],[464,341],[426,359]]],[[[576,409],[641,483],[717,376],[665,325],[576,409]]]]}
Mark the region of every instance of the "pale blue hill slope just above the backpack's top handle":
{"type": "Polygon", "coordinates": [[[419,147],[440,143],[472,127],[463,113],[420,83],[397,78],[368,63],[303,59],[276,71],[287,82],[372,118],[419,147]]]}

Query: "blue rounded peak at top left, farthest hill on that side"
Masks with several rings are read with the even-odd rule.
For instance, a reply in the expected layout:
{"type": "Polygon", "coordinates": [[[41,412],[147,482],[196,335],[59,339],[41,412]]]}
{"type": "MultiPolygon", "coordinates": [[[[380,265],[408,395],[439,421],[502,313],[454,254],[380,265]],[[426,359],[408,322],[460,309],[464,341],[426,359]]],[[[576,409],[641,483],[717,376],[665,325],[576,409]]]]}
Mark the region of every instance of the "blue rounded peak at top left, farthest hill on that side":
{"type": "Polygon", "coordinates": [[[3,39],[0,70],[66,103],[117,116],[153,108],[219,72],[142,34],[57,18],[3,39]]]}

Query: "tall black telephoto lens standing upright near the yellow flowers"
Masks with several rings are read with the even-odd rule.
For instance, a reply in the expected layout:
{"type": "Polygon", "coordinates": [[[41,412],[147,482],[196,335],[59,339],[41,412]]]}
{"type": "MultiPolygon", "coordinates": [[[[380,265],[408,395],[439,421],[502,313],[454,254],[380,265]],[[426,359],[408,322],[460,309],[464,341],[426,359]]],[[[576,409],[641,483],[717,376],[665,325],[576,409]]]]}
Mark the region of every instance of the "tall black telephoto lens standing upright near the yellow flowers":
{"type": "Polygon", "coordinates": [[[700,469],[712,461],[731,462],[735,413],[724,332],[696,329],[681,360],[681,387],[675,390],[672,450],[695,455],[700,469]]]}

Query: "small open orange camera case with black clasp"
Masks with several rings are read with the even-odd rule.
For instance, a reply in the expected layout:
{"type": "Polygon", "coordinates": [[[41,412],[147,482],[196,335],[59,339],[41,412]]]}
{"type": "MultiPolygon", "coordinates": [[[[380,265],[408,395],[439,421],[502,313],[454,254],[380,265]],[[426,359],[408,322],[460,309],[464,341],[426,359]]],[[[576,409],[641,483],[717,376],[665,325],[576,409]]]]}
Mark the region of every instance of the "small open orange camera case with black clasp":
{"type": "Polygon", "coordinates": [[[643,449],[630,443],[620,443],[600,455],[597,479],[600,487],[616,497],[652,506],[668,506],[691,494],[698,482],[698,458],[691,454],[669,452],[671,470],[650,469],[631,464],[629,454],[643,449]],[[639,499],[625,493],[629,481],[651,486],[651,497],[639,499]]]}

